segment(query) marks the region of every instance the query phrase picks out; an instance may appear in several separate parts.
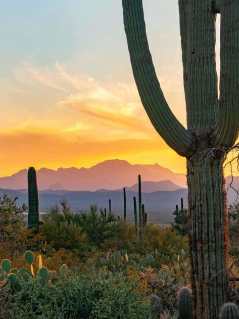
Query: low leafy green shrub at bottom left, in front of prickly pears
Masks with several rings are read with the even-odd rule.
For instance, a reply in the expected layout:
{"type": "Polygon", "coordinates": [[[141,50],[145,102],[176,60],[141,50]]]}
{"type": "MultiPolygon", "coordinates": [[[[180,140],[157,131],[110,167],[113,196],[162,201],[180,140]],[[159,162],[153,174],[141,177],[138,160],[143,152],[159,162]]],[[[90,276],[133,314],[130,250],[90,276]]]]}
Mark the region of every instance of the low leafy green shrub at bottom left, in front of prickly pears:
{"type": "Polygon", "coordinates": [[[12,308],[12,318],[153,318],[136,282],[103,271],[47,285],[30,278],[13,294],[12,308]]]}

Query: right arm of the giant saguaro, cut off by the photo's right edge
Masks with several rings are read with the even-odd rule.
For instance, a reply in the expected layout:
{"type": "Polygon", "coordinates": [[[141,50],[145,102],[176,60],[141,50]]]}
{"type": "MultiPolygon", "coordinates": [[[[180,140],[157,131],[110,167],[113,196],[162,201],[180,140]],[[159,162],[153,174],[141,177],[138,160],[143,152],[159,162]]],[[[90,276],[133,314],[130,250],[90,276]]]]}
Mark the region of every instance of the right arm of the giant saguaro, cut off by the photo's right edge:
{"type": "Polygon", "coordinates": [[[220,102],[215,147],[231,147],[239,122],[239,2],[221,0],[220,102]]]}

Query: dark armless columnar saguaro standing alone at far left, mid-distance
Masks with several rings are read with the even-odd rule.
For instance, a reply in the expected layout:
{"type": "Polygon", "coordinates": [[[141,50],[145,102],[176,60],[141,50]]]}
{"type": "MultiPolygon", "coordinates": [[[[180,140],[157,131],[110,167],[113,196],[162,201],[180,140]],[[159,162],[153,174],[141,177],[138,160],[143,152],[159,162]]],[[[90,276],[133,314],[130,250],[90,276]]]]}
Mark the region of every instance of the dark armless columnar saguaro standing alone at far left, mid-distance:
{"type": "Polygon", "coordinates": [[[36,171],[34,167],[29,167],[28,174],[28,229],[33,228],[36,233],[39,232],[39,225],[44,222],[39,218],[39,201],[36,183],[36,171]]]}

